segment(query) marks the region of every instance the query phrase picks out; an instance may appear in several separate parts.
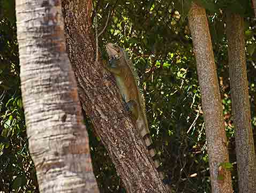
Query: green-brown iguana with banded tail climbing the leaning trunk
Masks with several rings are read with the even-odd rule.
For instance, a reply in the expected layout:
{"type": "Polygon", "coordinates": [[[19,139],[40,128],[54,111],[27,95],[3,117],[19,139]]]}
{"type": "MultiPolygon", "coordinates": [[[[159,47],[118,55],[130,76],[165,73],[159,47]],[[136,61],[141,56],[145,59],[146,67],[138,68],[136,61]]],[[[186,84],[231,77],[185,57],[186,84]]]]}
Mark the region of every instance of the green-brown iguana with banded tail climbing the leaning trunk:
{"type": "Polygon", "coordinates": [[[164,180],[164,175],[160,171],[159,159],[156,157],[156,151],[152,146],[149,134],[144,97],[142,90],[138,86],[139,78],[130,56],[116,44],[108,43],[106,48],[109,56],[109,63],[106,68],[114,74],[119,92],[126,103],[126,109],[131,111],[135,118],[140,135],[154,160],[154,165],[159,172],[160,178],[164,180]]]}

